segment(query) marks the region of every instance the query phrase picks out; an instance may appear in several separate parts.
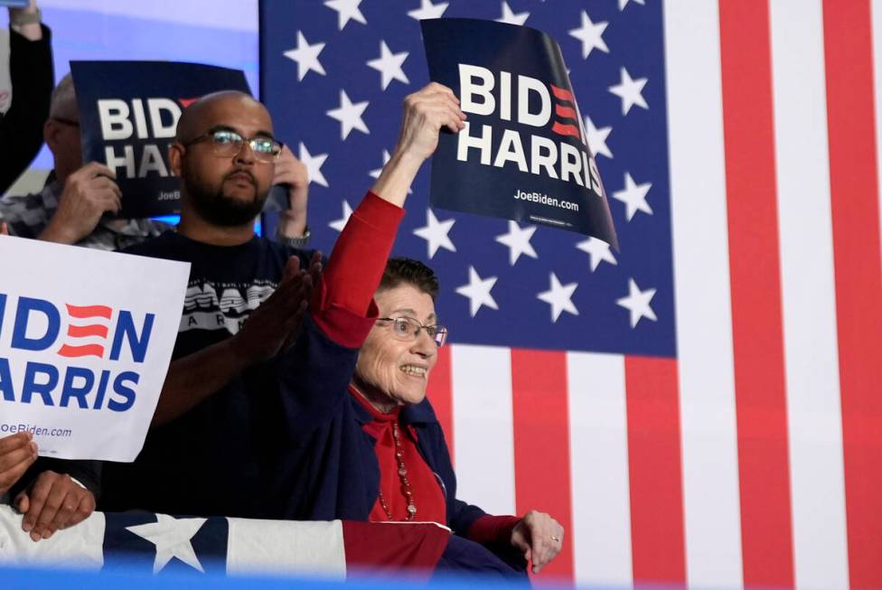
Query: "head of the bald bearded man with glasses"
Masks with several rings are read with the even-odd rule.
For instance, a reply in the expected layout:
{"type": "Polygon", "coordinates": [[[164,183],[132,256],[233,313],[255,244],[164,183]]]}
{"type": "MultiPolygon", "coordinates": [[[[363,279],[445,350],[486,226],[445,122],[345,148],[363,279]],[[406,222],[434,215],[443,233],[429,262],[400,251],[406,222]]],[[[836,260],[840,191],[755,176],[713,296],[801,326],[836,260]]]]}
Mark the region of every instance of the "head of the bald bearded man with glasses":
{"type": "Polygon", "coordinates": [[[239,91],[206,95],[183,111],[175,139],[169,161],[182,179],[181,229],[250,230],[282,151],[267,108],[239,91]]]}

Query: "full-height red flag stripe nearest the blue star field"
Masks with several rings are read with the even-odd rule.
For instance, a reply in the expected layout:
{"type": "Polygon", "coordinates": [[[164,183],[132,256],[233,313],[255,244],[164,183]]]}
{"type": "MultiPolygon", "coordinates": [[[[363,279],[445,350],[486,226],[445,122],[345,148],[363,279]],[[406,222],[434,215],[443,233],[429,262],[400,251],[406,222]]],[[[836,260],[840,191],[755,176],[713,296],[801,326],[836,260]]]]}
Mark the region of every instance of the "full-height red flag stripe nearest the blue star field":
{"type": "Polygon", "coordinates": [[[769,7],[721,0],[719,29],[744,584],[791,587],[769,7]]]}

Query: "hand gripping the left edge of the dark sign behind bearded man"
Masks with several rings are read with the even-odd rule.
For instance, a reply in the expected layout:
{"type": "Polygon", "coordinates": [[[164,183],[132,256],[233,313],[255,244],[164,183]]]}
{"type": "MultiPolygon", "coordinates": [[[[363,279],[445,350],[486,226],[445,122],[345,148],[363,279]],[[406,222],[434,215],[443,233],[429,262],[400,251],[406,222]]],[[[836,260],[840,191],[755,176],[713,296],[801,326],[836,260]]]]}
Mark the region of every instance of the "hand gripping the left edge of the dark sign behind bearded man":
{"type": "Polygon", "coordinates": [[[58,211],[40,239],[76,244],[88,236],[107,212],[118,213],[122,193],[113,181],[117,174],[103,164],[91,162],[70,174],[58,203],[58,211]]]}

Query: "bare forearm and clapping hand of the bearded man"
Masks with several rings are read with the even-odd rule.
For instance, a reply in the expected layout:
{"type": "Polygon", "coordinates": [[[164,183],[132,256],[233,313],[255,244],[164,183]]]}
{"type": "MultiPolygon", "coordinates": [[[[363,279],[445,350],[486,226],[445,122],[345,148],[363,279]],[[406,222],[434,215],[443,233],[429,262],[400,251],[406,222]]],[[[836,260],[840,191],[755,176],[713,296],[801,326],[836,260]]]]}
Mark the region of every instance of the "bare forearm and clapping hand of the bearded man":
{"type": "Polygon", "coordinates": [[[290,346],[303,322],[313,279],[321,273],[321,259],[321,253],[316,252],[307,272],[300,268],[300,258],[288,258],[276,291],[249,316],[235,336],[174,361],[151,426],[183,416],[242,371],[290,346]]]}

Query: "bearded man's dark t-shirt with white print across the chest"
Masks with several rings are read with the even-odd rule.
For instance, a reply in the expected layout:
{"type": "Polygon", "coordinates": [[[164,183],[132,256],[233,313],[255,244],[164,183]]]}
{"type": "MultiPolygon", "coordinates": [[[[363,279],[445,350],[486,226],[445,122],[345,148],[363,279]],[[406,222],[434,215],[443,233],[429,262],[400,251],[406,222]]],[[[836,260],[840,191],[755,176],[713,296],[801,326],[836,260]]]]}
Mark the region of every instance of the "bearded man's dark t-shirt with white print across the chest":
{"type": "MultiPolygon", "coordinates": [[[[276,289],[290,256],[309,254],[255,236],[240,246],[203,244],[174,232],[123,250],[191,263],[173,359],[239,331],[276,289]]],[[[108,463],[101,510],[254,517],[265,489],[258,471],[263,366],[246,370],[188,413],[150,431],[134,464],[108,463]]]]}

